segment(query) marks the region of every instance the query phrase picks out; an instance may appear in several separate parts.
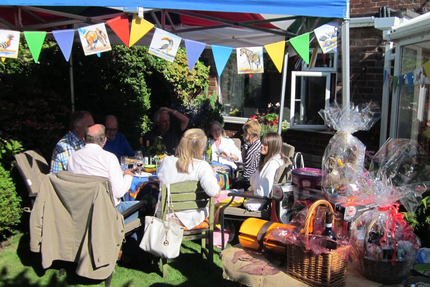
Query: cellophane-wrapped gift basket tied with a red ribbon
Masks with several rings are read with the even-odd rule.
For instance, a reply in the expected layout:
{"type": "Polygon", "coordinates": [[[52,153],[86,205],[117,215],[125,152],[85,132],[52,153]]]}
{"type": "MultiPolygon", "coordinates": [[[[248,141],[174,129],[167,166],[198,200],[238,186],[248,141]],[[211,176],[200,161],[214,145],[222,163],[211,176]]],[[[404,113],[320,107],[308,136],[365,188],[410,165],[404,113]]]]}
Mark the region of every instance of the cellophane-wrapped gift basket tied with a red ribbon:
{"type": "Polygon", "coordinates": [[[369,199],[378,209],[367,211],[351,225],[351,258],[358,271],[372,281],[396,284],[407,277],[419,238],[406,223],[399,206],[414,213],[427,190],[425,183],[411,183],[417,144],[408,139],[389,139],[375,154],[368,180],[374,189],[369,199]]]}

